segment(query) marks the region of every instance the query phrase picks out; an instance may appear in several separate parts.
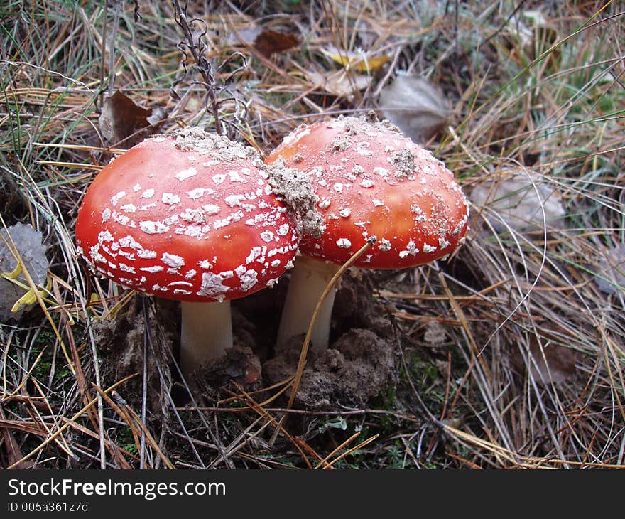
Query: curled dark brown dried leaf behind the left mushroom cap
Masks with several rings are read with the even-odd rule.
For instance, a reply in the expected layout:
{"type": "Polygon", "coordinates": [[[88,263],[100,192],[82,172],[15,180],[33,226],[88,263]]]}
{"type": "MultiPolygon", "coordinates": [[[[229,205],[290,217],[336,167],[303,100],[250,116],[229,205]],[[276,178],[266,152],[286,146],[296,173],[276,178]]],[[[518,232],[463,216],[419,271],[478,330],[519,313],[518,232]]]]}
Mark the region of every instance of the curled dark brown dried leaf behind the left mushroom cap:
{"type": "Polygon", "coordinates": [[[156,122],[152,116],[151,108],[136,105],[133,100],[118,90],[102,103],[102,114],[98,120],[100,132],[109,143],[126,139],[124,144],[132,146],[143,140],[146,134],[151,133],[139,132],[139,130],[149,129],[156,122]],[[135,132],[138,133],[128,139],[135,132]]]}

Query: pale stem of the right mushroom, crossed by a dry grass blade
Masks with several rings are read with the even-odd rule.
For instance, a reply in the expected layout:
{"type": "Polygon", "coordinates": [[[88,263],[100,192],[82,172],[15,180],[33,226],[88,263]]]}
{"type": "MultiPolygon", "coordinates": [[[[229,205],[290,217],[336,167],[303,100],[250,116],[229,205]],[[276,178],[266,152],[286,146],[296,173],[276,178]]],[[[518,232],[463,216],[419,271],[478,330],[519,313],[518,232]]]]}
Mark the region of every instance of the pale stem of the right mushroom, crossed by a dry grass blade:
{"type": "MultiPolygon", "coordinates": [[[[341,268],[340,265],[300,256],[295,260],[290,274],[286,301],[278,328],[278,346],[291,337],[308,332],[312,314],[330,279],[341,268]]],[[[330,338],[330,318],[334,306],[336,287],[333,287],[315,320],[310,336],[310,349],[324,351],[330,338]]]]}

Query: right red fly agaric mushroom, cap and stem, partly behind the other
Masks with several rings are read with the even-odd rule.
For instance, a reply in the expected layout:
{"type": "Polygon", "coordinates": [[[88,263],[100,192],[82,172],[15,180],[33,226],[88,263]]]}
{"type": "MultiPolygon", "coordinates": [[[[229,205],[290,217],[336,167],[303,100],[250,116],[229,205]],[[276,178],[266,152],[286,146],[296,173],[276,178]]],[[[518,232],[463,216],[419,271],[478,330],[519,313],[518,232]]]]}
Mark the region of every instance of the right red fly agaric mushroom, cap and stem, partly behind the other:
{"type": "MultiPolygon", "coordinates": [[[[340,265],[371,237],[354,267],[402,269],[449,255],[467,230],[469,205],[453,173],[373,112],[301,125],[266,159],[308,174],[325,225],[303,235],[287,291],[278,344],[305,333],[320,294],[340,265]]],[[[311,348],[330,336],[336,291],[320,309],[311,348]]]]}

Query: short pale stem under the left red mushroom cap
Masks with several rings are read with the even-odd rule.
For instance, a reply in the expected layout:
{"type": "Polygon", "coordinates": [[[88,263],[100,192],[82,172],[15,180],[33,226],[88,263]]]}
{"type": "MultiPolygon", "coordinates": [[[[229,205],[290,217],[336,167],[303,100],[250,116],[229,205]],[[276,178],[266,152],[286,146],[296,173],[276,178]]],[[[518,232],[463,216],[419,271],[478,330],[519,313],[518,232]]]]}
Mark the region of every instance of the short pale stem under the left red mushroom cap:
{"type": "Polygon", "coordinates": [[[230,301],[190,303],[183,301],[180,329],[180,369],[188,375],[209,360],[232,348],[230,301]]]}

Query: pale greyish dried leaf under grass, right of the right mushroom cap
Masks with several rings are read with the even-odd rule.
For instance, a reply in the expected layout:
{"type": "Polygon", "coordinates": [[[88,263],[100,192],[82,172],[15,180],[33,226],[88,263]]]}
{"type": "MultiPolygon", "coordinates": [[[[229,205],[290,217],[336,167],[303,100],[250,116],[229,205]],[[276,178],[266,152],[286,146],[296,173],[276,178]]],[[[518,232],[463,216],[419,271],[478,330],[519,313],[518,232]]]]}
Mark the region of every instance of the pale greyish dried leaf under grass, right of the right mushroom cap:
{"type": "Polygon", "coordinates": [[[496,232],[509,228],[516,232],[562,229],[566,211],[555,188],[536,173],[513,173],[490,178],[473,188],[469,198],[476,205],[488,206],[485,217],[496,232]],[[544,210],[544,218],[543,218],[544,210]]]}

